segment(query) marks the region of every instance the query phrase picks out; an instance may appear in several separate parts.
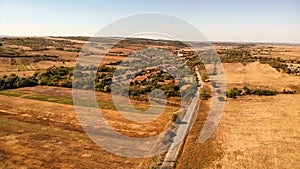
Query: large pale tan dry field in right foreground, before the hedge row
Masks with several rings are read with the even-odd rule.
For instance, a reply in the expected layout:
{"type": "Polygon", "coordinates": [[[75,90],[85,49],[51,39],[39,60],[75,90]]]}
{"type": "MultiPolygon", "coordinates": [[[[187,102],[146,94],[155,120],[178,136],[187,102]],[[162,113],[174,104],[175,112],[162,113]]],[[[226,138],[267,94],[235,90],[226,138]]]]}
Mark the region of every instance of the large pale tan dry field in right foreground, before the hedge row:
{"type": "Polygon", "coordinates": [[[224,152],[216,166],[299,168],[299,102],[299,94],[229,100],[215,133],[224,152]]]}

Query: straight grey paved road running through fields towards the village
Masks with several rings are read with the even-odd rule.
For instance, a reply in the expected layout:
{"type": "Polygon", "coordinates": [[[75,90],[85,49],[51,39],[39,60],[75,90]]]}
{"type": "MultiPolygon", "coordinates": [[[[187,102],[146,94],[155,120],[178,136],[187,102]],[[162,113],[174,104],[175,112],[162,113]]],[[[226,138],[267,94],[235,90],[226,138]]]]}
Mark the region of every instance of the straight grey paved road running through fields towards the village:
{"type": "MultiPolygon", "coordinates": [[[[198,68],[195,67],[195,72],[197,74],[199,83],[202,87],[202,79],[201,76],[198,72],[198,68]]],[[[164,159],[164,162],[162,163],[161,168],[162,169],[168,169],[172,168],[176,162],[176,158],[178,156],[180,147],[183,143],[180,141],[184,139],[184,137],[187,135],[188,131],[191,129],[192,124],[194,124],[197,114],[198,114],[198,108],[199,108],[199,91],[200,88],[198,87],[198,91],[196,93],[196,97],[193,98],[190,106],[188,107],[185,116],[182,121],[186,122],[185,124],[180,124],[177,131],[176,131],[176,136],[173,139],[173,143],[170,145],[170,148],[166,154],[166,157],[164,159]]]]}

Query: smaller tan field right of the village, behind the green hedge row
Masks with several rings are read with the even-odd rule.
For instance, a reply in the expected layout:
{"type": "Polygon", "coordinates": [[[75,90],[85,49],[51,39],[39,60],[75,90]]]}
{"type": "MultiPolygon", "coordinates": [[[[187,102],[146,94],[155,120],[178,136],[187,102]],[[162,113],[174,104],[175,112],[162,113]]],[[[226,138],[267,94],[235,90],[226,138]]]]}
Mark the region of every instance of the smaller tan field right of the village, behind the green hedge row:
{"type": "Polygon", "coordinates": [[[300,92],[300,78],[293,75],[280,73],[269,65],[258,62],[248,63],[223,63],[226,75],[227,89],[233,87],[265,88],[282,91],[284,89],[300,92]]]}

